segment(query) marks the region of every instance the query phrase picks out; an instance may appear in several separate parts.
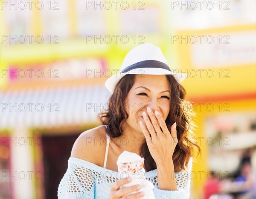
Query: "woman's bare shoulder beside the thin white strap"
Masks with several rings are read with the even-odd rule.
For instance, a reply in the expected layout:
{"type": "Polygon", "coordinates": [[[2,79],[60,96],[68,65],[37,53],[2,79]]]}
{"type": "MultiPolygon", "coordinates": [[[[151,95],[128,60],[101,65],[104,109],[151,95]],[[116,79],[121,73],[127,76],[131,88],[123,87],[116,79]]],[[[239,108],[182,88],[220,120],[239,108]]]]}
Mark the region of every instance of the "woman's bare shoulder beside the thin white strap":
{"type": "Polygon", "coordinates": [[[99,165],[99,161],[105,156],[105,137],[106,130],[104,125],[84,131],[76,139],[71,151],[71,157],[99,165]]]}

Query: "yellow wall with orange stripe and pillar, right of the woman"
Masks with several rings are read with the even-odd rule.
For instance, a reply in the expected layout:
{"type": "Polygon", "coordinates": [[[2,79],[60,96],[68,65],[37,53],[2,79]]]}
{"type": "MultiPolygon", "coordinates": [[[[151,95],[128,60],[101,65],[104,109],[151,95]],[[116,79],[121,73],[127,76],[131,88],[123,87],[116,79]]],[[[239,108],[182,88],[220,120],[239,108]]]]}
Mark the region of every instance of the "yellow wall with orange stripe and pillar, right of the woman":
{"type": "MultiPolygon", "coordinates": [[[[185,35],[206,35],[214,33],[222,34],[223,32],[238,32],[244,30],[255,30],[255,24],[219,29],[181,31],[177,32],[176,34],[183,35],[183,37],[185,37],[185,35]]],[[[180,63],[180,68],[183,70],[183,72],[185,72],[185,69],[195,69],[195,67],[192,66],[192,62],[190,60],[191,45],[193,44],[178,43],[175,45],[178,49],[178,61],[180,63]]],[[[219,78],[218,75],[215,75],[213,78],[207,78],[204,75],[202,78],[200,78],[198,75],[196,78],[186,78],[182,82],[182,85],[187,91],[188,99],[191,99],[192,102],[194,102],[195,104],[204,103],[204,105],[202,105],[202,110],[200,110],[199,105],[197,105],[198,108],[196,110],[196,113],[198,115],[198,118],[195,120],[196,124],[198,125],[198,131],[195,132],[197,138],[206,137],[205,121],[206,118],[209,116],[214,116],[218,114],[232,114],[234,112],[256,112],[255,65],[244,64],[239,66],[224,66],[222,68],[209,69],[212,69],[215,74],[218,74],[217,71],[219,69],[229,69],[230,78],[219,78]],[[212,112],[209,112],[206,109],[206,105],[208,103],[212,103],[214,107],[214,110],[212,112]],[[219,107],[221,107],[221,110],[219,107]]],[[[199,144],[199,139],[197,140],[199,144]]],[[[201,156],[198,156],[196,158],[192,168],[192,170],[197,174],[197,178],[195,180],[192,180],[192,196],[194,196],[195,198],[203,197],[202,187],[206,180],[206,176],[204,174],[209,171],[209,147],[207,146],[205,141],[202,141],[200,144],[202,153],[201,156]],[[200,172],[204,172],[202,179],[200,179],[200,172]]]]}

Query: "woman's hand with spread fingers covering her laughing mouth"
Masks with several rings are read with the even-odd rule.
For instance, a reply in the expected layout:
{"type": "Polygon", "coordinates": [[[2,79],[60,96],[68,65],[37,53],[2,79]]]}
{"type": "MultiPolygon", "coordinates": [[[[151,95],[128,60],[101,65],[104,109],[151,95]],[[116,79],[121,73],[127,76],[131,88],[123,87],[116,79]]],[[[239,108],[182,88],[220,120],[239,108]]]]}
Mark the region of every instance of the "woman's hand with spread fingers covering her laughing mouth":
{"type": "Polygon", "coordinates": [[[170,133],[163,117],[158,111],[153,113],[152,110],[148,108],[147,113],[143,112],[143,118],[147,128],[144,126],[142,121],[140,121],[140,127],[145,136],[148,150],[152,158],[158,165],[165,162],[172,162],[172,155],[178,143],[176,122],[172,125],[170,133]],[[149,120],[148,116],[150,117],[151,121],[149,120]],[[163,132],[160,127],[162,128],[163,132]]]}

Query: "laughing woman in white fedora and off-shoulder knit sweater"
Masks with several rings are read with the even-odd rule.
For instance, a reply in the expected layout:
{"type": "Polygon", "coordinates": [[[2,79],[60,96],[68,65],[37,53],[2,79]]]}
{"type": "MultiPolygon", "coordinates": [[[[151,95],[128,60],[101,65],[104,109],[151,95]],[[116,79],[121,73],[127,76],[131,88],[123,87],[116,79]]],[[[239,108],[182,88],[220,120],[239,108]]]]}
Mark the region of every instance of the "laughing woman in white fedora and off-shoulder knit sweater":
{"type": "Polygon", "coordinates": [[[116,161],[124,151],[145,159],[145,179],[154,184],[155,198],[189,198],[192,112],[180,82],[159,47],[145,43],[125,56],[120,73],[105,86],[112,93],[102,126],[77,138],[58,198],[141,198],[136,185],[124,187],[116,161]]]}

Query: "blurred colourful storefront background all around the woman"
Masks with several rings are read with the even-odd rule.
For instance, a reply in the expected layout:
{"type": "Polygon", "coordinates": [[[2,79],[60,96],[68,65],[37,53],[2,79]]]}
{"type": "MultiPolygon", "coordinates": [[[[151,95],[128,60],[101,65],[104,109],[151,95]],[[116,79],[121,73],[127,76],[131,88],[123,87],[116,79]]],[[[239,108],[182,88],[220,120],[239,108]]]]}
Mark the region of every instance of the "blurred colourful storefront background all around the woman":
{"type": "Polygon", "coordinates": [[[57,198],[74,141],[99,126],[107,78],[142,43],[187,73],[198,115],[191,198],[255,198],[256,5],[0,1],[0,198],[57,198]]]}

